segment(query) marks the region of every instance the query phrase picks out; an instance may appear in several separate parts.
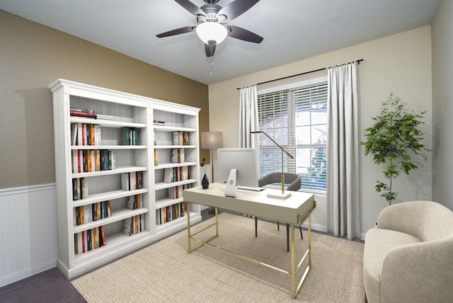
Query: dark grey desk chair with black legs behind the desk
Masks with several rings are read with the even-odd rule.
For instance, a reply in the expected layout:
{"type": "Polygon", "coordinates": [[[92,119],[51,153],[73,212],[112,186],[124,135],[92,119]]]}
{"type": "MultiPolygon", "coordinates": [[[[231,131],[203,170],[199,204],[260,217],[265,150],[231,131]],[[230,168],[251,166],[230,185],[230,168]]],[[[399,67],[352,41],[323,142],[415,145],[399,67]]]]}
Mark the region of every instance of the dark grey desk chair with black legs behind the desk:
{"type": "MultiPolygon", "coordinates": [[[[287,190],[297,191],[301,186],[301,179],[297,173],[283,173],[285,175],[285,184],[287,184],[287,190]]],[[[258,186],[263,187],[265,185],[282,182],[282,173],[269,173],[268,175],[258,180],[258,186]]],[[[280,223],[277,222],[277,228],[280,230],[280,223]]],[[[300,236],[302,235],[302,227],[299,226],[300,236]]],[[[255,217],[255,236],[258,236],[258,219],[255,217]]],[[[289,251],[289,224],[286,225],[286,245],[287,251],[289,251]]]]}

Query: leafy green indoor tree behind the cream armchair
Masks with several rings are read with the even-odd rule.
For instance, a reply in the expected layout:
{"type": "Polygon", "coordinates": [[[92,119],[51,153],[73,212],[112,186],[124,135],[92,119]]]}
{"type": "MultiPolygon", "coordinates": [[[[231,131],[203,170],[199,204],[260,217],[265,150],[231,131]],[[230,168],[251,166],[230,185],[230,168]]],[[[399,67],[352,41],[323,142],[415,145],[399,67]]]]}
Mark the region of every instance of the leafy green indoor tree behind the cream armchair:
{"type": "Polygon", "coordinates": [[[360,142],[365,147],[365,155],[371,154],[374,163],[384,166],[384,178],[388,183],[377,181],[375,189],[386,202],[396,199],[392,190],[392,181],[400,172],[409,174],[413,169],[422,166],[418,159],[427,160],[425,151],[430,151],[421,142],[423,132],[418,128],[425,124],[421,119],[426,110],[414,113],[400,98],[390,93],[386,102],[382,103],[379,115],[372,118],[374,124],[364,130],[366,141],[360,142]]]}

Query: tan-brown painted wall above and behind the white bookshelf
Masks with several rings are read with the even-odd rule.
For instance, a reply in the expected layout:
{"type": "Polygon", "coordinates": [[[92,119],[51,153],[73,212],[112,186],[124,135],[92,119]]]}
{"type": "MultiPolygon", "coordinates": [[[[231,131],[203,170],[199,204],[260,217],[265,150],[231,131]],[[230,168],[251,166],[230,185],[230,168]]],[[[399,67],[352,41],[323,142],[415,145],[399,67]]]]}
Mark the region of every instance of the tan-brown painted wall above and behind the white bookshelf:
{"type": "Polygon", "coordinates": [[[0,188],[55,182],[47,86],[59,78],[201,108],[208,130],[205,84],[1,10],[0,41],[0,188]]]}

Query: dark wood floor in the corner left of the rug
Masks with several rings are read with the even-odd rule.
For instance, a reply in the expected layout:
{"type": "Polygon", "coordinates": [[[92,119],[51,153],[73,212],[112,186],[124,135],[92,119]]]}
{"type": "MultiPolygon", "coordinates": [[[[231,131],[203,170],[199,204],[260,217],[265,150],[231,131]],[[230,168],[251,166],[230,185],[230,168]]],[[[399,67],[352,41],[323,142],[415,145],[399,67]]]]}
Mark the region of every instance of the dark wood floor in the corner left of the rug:
{"type": "MultiPolygon", "coordinates": [[[[213,215],[208,210],[202,211],[202,219],[213,215]]],[[[31,277],[0,287],[1,303],[83,303],[86,302],[72,286],[71,281],[59,271],[52,268],[31,277]]]]}

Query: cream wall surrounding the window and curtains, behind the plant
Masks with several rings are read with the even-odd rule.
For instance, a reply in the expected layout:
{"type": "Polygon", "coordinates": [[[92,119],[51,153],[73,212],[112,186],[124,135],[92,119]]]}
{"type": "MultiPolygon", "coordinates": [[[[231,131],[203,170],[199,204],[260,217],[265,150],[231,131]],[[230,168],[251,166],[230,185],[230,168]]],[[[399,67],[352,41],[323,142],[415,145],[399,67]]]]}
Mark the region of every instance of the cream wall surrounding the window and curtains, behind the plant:
{"type": "MultiPolygon", "coordinates": [[[[362,130],[371,126],[371,117],[379,113],[380,104],[390,92],[417,110],[428,110],[425,115],[425,144],[432,147],[432,88],[431,88],[431,36],[430,26],[405,33],[372,40],[334,52],[304,59],[263,72],[210,85],[210,129],[224,132],[224,146],[237,147],[239,133],[239,91],[236,88],[249,84],[277,79],[282,76],[308,72],[355,59],[364,59],[357,69],[358,95],[360,99],[360,140],[362,130]]],[[[288,81],[301,81],[326,75],[326,71],[307,74],[285,81],[258,86],[258,89],[277,86],[288,81]]],[[[375,166],[371,157],[365,157],[360,149],[360,213],[361,232],[374,226],[380,210],[386,202],[374,191],[374,184],[382,178],[382,168],[375,166]]],[[[394,189],[398,200],[430,199],[432,196],[432,157],[424,168],[401,176],[394,189]]],[[[214,164],[216,162],[214,161],[214,164]]],[[[316,196],[318,209],[314,224],[326,226],[326,199],[316,196]]]]}

